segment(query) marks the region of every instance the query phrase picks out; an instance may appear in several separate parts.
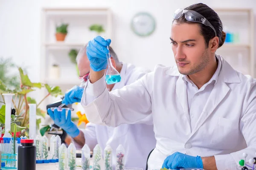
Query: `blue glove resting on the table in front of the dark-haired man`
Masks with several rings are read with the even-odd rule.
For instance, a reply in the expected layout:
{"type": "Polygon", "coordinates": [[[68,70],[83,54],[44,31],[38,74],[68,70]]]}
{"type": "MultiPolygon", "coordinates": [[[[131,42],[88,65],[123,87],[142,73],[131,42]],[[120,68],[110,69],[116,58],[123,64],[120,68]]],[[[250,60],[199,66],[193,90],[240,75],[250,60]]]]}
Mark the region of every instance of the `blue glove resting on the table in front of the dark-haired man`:
{"type": "Polygon", "coordinates": [[[203,161],[200,156],[189,156],[183,153],[175,152],[168,156],[164,162],[162,168],[176,169],[180,168],[203,168],[203,161]]]}

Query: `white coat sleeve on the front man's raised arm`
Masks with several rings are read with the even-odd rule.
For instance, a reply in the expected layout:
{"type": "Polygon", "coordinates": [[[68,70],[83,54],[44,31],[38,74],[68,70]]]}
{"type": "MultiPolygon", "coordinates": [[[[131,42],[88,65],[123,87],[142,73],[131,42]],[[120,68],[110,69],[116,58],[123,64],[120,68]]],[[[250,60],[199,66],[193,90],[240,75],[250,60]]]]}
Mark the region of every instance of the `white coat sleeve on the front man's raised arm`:
{"type": "Polygon", "coordinates": [[[93,84],[88,81],[81,99],[87,119],[112,127],[125,123],[145,123],[151,115],[151,91],[146,87],[151,79],[153,72],[111,92],[106,88],[105,75],[93,84]]]}

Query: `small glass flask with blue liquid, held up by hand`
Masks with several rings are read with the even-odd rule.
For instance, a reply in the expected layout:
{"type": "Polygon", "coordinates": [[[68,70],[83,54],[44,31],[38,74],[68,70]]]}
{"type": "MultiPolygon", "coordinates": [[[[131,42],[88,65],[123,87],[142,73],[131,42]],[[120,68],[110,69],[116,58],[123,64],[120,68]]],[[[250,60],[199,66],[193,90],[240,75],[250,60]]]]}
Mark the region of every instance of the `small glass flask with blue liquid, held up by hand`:
{"type": "MultiPolygon", "coordinates": [[[[103,37],[105,40],[106,38],[103,37]]],[[[108,45],[107,45],[108,48],[108,45]]],[[[109,51],[109,48],[108,48],[109,51]]],[[[107,73],[106,73],[106,83],[108,85],[111,84],[115,84],[117,82],[121,81],[121,75],[119,74],[119,72],[116,70],[116,68],[114,68],[114,66],[112,65],[111,62],[111,56],[110,56],[110,52],[108,52],[107,56],[107,61],[108,61],[108,69],[107,69],[107,73]]]]}

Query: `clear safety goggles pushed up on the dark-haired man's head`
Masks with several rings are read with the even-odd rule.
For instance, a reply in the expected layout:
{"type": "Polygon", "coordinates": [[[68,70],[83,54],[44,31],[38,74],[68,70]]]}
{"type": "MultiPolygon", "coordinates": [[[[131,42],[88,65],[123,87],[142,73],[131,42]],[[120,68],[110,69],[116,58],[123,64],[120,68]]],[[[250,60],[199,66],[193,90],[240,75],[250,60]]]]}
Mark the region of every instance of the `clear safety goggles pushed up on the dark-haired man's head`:
{"type": "Polygon", "coordinates": [[[173,19],[179,19],[183,14],[185,15],[185,18],[188,21],[202,23],[205,26],[211,27],[213,29],[213,31],[215,32],[215,36],[217,36],[216,31],[215,31],[214,27],[212,26],[212,24],[209,23],[209,21],[205,17],[203,17],[201,14],[199,14],[196,11],[177,9],[173,14],[173,19]]]}

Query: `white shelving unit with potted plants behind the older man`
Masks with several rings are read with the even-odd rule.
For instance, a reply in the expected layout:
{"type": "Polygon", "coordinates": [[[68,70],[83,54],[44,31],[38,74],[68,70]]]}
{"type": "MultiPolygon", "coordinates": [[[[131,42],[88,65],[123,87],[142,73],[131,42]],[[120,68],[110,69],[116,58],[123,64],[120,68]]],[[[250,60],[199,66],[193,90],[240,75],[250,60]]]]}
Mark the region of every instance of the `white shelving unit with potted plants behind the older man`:
{"type": "MultiPolygon", "coordinates": [[[[43,8],[41,11],[41,82],[51,86],[60,86],[63,93],[81,83],[77,75],[76,65],[70,61],[68,53],[71,49],[79,51],[97,34],[90,31],[92,24],[103,25],[103,35],[111,38],[112,14],[109,8],[43,8]],[[55,28],[67,23],[68,33],[63,42],[55,40],[55,28]],[[59,65],[60,77],[49,77],[53,64],[59,65]]],[[[42,92],[42,96],[46,91],[42,92]]],[[[55,102],[58,98],[48,97],[43,107],[55,102]]]]}

